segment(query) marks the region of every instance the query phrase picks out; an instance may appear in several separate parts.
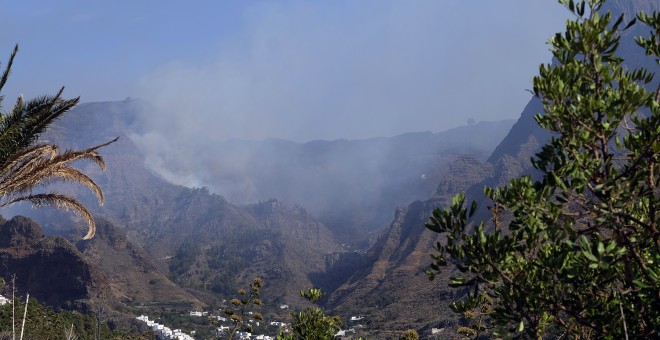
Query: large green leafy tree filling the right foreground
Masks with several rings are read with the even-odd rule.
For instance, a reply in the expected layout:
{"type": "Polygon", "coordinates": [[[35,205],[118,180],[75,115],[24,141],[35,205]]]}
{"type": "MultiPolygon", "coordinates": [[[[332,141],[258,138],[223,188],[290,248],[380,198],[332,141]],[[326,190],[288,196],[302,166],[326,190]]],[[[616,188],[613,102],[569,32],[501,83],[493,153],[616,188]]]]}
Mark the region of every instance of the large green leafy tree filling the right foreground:
{"type": "MultiPolygon", "coordinates": [[[[556,58],[533,80],[553,133],[526,176],[485,188],[493,219],[473,223],[465,197],[436,209],[426,227],[446,235],[427,271],[451,266],[451,286],[469,288],[457,313],[492,302],[495,334],[541,338],[654,338],[660,329],[660,87],[654,73],[616,55],[635,21],[599,12],[604,0],[560,0],[574,15],[550,40],[556,58]],[[486,298],[487,297],[487,298],[486,298]],[[487,302],[491,301],[491,302],[487,302]]],[[[660,15],[636,38],[660,63],[660,15]]],[[[479,330],[480,331],[480,330],[479,330]]]]}

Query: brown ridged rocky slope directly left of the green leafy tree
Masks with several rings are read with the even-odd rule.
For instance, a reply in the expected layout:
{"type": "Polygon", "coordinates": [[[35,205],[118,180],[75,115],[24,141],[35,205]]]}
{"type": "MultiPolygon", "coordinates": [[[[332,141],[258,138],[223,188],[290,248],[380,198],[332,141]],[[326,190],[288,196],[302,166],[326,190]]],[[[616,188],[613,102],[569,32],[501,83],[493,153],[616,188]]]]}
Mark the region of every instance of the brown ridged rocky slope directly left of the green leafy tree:
{"type": "MultiPolygon", "coordinates": [[[[433,282],[423,270],[429,254],[439,241],[437,234],[423,226],[436,207],[446,206],[457,191],[471,183],[483,183],[494,175],[494,167],[473,157],[456,159],[438,186],[436,195],[396,211],[389,230],[364,256],[360,266],[330,296],[328,305],[341,315],[369,315],[370,337],[396,337],[410,325],[455,325],[449,302],[462,292],[448,288],[446,278],[433,282]],[[442,322],[438,322],[442,320],[442,322]]],[[[483,186],[482,186],[483,188],[483,186]]]]}

